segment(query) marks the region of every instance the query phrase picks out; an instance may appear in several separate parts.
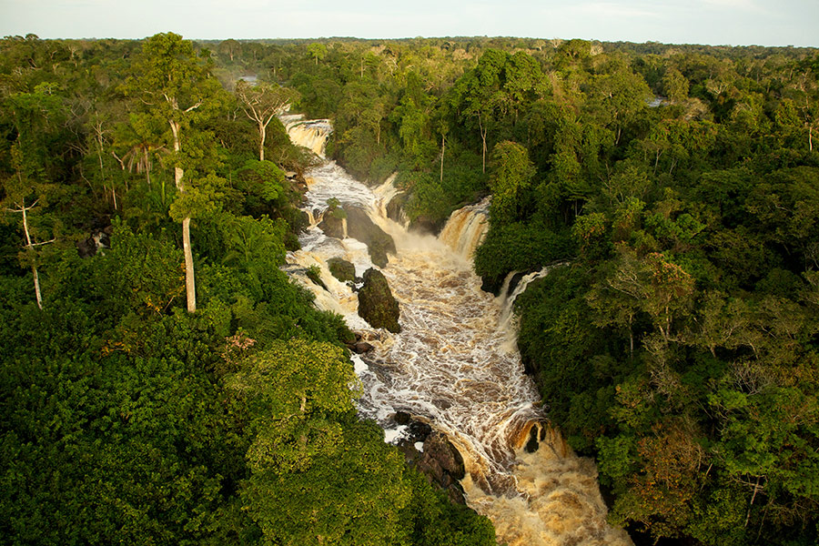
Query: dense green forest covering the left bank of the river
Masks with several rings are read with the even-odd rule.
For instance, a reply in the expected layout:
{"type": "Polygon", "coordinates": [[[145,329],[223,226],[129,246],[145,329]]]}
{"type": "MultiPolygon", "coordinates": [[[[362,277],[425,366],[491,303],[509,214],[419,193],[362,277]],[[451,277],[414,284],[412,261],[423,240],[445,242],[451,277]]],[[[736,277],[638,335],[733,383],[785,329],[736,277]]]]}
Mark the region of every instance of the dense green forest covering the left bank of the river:
{"type": "Polygon", "coordinates": [[[0,542],[495,543],[359,420],[351,333],[279,270],[311,160],[276,88],[173,34],[0,51],[0,542]]]}

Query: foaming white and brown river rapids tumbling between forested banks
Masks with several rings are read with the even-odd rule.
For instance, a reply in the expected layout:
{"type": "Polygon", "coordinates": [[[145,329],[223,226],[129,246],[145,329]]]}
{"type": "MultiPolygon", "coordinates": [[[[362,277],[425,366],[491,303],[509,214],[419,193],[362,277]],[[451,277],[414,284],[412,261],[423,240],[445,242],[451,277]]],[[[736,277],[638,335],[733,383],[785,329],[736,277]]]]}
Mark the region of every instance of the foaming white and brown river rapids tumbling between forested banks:
{"type": "MultiPolygon", "coordinates": [[[[303,134],[291,138],[300,144],[303,134]]],[[[308,136],[315,147],[314,134],[308,136]]],[[[365,207],[398,248],[382,273],[399,301],[399,334],[371,329],[356,314],[356,293],[329,274],[327,260],[334,257],[353,262],[359,276],[373,267],[362,243],[327,238],[311,227],[302,249],[288,254],[291,276],[317,295],[317,305],[342,314],[375,347],[354,357],[363,385],[360,413],[391,427],[388,440],[400,434],[392,420],[399,410],[445,433],[463,456],[461,484],[470,507],[490,518],[501,543],[631,544],[625,531],[605,521],[593,462],[571,452],[538,406],[510,335],[511,302],[481,291],[471,270],[486,204],[453,213],[440,240],[409,233],[386,217],[386,200],[395,194],[389,181],[370,190],[328,162],[308,173],[308,187],[311,217],[314,211],[320,216],[330,197],[365,207]],[[307,280],[310,266],[320,268],[327,289],[307,280]],[[540,449],[527,453],[522,446],[532,427],[540,449]]]]}

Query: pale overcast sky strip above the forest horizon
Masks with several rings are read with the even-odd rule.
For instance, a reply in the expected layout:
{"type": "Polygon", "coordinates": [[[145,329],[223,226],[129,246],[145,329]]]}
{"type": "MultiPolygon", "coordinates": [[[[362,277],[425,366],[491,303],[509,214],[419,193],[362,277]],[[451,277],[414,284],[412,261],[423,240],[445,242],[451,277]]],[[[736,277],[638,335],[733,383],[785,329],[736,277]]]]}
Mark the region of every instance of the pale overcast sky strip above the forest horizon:
{"type": "Polygon", "coordinates": [[[819,46],[819,0],[0,0],[0,35],[530,36],[819,46]]]}

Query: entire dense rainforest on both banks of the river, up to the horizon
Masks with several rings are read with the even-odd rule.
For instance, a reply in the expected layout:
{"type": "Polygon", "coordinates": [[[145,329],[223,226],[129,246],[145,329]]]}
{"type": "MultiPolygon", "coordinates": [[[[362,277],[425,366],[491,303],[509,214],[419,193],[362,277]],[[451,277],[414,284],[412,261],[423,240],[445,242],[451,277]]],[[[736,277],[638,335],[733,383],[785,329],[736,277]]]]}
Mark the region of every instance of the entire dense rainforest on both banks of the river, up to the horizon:
{"type": "Polygon", "coordinates": [[[287,103],[418,229],[491,195],[487,290],[551,266],[519,347],[613,523],[819,539],[816,50],[27,35],[0,94],[4,541],[494,543],[356,417],[351,333],[278,270],[287,103]]]}

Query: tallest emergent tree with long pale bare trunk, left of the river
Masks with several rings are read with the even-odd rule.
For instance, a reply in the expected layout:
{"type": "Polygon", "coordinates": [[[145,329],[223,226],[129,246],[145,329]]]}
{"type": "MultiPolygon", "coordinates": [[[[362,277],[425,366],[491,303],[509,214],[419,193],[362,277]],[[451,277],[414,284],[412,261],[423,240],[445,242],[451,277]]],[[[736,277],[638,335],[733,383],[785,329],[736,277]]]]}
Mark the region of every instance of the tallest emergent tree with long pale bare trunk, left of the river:
{"type": "MultiPolygon", "coordinates": [[[[221,87],[212,76],[209,63],[200,59],[193,45],[174,33],[148,38],[136,63],[135,76],[129,78],[126,90],[139,98],[152,116],[167,122],[174,145],[174,181],[185,195],[188,180],[184,178],[191,150],[183,145],[197,122],[207,118],[220,106],[221,87]],[[183,153],[183,152],[187,152],[183,153]]],[[[185,252],[185,287],[187,310],[197,310],[193,253],[190,245],[190,216],[182,218],[182,245],[185,252]]]]}

